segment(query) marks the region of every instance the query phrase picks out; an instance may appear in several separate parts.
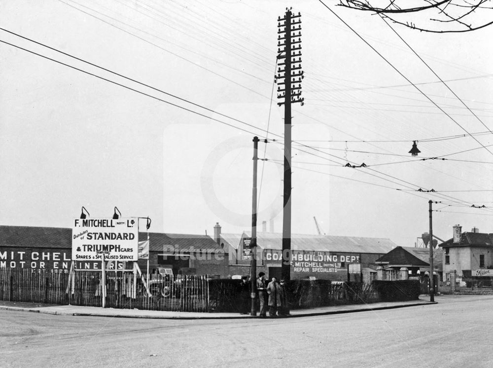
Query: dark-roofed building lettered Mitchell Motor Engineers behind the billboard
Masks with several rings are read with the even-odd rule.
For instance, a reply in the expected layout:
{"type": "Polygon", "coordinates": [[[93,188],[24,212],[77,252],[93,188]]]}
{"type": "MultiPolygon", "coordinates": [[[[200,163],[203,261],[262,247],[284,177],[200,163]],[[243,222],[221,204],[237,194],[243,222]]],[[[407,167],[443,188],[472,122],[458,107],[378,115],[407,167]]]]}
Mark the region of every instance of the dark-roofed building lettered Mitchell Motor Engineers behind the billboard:
{"type": "MultiPolygon", "coordinates": [[[[228,275],[228,255],[207,235],[139,233],[149,238],[149,269],[173,268],[174,273],[228,275]]],[[[0,267],[68,273],[71,265],[71,228],[0,226],[0,267]]],[[[80,270],[101,270],[101,261],[75,262],[80,270]]],[[[147,260],[139,260],[142,272],[147,260]]],[[[108,269],[127,268],[124,262],[109,263],[108,269]]]]}

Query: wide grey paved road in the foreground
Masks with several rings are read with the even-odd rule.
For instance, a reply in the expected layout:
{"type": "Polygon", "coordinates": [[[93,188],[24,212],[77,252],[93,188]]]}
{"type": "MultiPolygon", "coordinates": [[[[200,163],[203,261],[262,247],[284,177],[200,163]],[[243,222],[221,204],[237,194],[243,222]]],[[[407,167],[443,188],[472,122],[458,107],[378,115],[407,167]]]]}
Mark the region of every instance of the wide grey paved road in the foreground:
{"type": "Polygon", "coordinates": [[[0,310],[1,367],[493,367],[493,296],[267,320],[0,310]]]}

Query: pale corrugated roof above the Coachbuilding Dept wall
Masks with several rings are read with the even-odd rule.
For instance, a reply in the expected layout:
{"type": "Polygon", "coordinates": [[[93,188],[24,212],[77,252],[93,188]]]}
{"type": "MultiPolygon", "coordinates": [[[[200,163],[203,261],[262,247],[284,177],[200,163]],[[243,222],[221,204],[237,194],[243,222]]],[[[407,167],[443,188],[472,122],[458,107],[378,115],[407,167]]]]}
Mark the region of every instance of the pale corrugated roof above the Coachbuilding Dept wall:
{"type": "MultiPolygon", "coordinates": [[[[250,236],[250,232],[245,232],[250,236]]],[[[257,245],[263,249],[282,250],[282,234],[257,233],[257,245]]],[[[390,239],[355,236],[291,234],[291,249],[315,252],[387,253],[397,245],[390,239]]]]}

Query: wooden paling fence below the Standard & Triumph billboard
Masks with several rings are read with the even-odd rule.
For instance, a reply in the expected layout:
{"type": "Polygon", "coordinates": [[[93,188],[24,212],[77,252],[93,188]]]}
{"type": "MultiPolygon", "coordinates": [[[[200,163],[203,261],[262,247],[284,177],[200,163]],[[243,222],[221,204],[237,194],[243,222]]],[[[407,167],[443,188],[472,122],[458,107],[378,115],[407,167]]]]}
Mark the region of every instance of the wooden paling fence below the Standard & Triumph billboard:
{"type": "MultiPolygon", "coordinates": [[[[106,307],[184,312],[209,312],[207,276],[157,275],[145,279],[131,272],[106,275],[106,307]],[[149,295],[150,293],[150,295],[149,295]]],[[[51,273],[0,268],[0,300],[47,304],[102,306],[101,272],[51,273]]]]}

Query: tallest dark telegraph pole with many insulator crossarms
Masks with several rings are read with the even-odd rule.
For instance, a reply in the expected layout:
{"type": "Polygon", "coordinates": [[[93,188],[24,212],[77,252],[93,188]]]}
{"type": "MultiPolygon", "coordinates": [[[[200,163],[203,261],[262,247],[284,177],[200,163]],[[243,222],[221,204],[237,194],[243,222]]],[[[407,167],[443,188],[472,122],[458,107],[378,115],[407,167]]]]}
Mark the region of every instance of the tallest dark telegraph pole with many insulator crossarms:
{"type": "Polygon", "coordinates": [[[301,14],[293,15],[286,8],[284,18],[278,17],[278,63],[276,75],[278,98],[284,101],[284,190],[282,212],[282,263],[281,275],[285,280],[291,278],[291,104],[299,102],[301,96],[301,14]],[[296,31],[298,32],[296,34],[296,31]],[[283,49],[282,49],[283,47],[283,49]],[[296,59],[297,58],[297,59],[296,59]],[[297,78],[297,79],[296,79],[297,78]],[[296,86],[296,84],[298,84],[296,86]],[[283,86],[283,88],[281,88],[283,86]]]}

